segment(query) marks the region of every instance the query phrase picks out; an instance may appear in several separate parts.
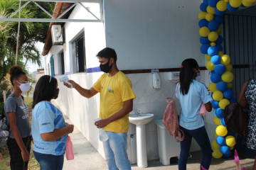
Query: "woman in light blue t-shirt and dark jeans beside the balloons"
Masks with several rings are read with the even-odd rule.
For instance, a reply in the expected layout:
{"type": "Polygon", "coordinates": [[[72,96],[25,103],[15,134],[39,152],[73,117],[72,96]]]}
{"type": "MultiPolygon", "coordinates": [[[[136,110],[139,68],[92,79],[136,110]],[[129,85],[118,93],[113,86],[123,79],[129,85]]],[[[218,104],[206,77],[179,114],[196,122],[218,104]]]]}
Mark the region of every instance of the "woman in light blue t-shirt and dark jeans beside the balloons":
{"type": "Polygon", "coordinates": [[[212,157],[210,140],[206,132],[203,116],[199,110],[201,103],[206,106],[206,111],[210,112],[212,98],[206,89],[206,85],[196,81],[200,75],[198,63],[194,59],[186,59],[181,64],[180,81],[176,86],[176,97],[181,103],[181,115],[179,117],[180,129],[184,132],[184,140],[181,141],[181,153],[178,160],[178,169],[185,170],[189,157],[192,137],[196,140],[203,152],[201,166],[209,169],[212,157]]]}

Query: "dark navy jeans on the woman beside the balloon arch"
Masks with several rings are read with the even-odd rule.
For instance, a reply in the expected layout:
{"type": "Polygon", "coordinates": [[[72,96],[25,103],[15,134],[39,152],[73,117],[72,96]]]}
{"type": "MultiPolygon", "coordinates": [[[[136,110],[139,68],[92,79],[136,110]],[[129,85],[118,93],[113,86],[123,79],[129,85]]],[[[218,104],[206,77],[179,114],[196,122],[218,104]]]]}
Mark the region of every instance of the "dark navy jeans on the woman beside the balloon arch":
{"type": "Polygon", "coordinates": [[[187,130],[180,126],[180,129],[184,132],[185,137],[184,140],[181,141],[181,154],[178,160],[178,169],[186,170],[186,162],[189,156],[189,149],[191,147],[192,137],[196,140],[198,145],[201,147],[201,151],[203,152],[201,166],[209,169],[213,150],[210,147],[210,140],[207,135],[206,128],[203,126],[195,130],[187,130]]]}

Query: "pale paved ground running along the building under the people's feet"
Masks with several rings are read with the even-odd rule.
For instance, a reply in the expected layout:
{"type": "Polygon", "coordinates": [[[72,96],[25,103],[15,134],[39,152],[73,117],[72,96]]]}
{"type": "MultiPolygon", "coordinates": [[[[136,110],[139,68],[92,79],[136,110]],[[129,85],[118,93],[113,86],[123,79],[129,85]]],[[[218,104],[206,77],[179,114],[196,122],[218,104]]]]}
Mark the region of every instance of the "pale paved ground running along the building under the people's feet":
{"type": "MultiPolygon", "coordinates": [[[[68,123],[70,120],[66,119],[68,123]]],[[[85,137],[81,135],[77,128],[74,132],[70,134],[70,137],[73,141],[73,150],[75,153],[75,159],[72,161],[64,162],[64,170],[100,170],[107,169],[107,164],[97,150],[90,145],[85,137]]],[[[201,152],[192,152],[192,158],[188,159],[187,169],[196,170],[199,169],[201,161],[201,152]]],[[[254,159],[247,157],[245,150],[238,150],[240,155],[240,164],[245,166],[246,170],[252,169],[254,159]]],[[[137,164],[132,165],[132,170],[167,170],[167,169],[178,169],[177,159],[171,159],[171,164],[169,166],[164,166],[159,162],[159,160],[149,162],[147,168],[139,168],[137,164]]],[[[230,158],[221,158],[221,159],[212,159],[210,169],[214,170],[235,170],[235,162],[233,157],[230,158]]]]}

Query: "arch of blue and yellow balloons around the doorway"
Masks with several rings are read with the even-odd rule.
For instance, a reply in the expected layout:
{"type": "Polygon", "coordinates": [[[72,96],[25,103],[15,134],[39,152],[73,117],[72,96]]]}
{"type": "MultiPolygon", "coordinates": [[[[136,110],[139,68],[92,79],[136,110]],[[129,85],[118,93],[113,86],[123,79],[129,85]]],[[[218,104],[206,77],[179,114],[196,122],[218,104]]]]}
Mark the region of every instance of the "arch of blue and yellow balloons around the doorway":
{"type": "Polygon", "coordinates": [[[213,122],[218,125],[215,130],[215,140],[211,143],[213,157],[230,157],[231,150],[235,146],[233,132],[229,132],[225,126],[224,108],[229,103],[235,102],[232,90],[233,65],[230,63],[230,56],[223,53],[223,37],[221,24],[223,15],[227,11],[236,11],[240,7],[252,6],[256,0],[203,0],[200,5],[199,33],[201,35],[201,52],[206,55],[206,69],[212,74],[212,81],[208,88],[212,92],[212,106],[215,109],[213,122]]]}

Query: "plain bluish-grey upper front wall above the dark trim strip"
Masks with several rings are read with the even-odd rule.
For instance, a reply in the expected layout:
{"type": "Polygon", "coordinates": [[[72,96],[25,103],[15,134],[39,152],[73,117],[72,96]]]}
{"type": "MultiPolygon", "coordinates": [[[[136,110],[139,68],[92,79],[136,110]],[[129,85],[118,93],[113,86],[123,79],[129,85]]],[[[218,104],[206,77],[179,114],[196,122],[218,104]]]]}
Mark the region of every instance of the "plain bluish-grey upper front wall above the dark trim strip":
{"type": "Polygon", "coordinates": [[[119,69],[179,67],[186,58],[205,65],[200,52],[201,0],[107,0],[107,46],[117,50],[119,69]]]}

